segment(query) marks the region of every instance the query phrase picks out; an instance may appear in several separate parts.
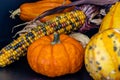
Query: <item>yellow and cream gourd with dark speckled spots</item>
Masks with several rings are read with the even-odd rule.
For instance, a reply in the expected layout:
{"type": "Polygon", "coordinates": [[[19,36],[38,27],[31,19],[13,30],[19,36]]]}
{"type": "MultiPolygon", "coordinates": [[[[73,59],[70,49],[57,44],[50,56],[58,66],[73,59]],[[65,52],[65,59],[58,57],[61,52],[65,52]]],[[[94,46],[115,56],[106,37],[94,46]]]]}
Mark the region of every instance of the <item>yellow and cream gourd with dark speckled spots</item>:
{"type": "Polygon", "coordinates": [[[85,49],[85,67],[94,80],[120,80],[120,29],[91,38],[85,49]]]}

